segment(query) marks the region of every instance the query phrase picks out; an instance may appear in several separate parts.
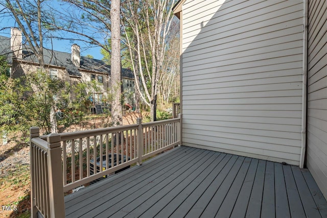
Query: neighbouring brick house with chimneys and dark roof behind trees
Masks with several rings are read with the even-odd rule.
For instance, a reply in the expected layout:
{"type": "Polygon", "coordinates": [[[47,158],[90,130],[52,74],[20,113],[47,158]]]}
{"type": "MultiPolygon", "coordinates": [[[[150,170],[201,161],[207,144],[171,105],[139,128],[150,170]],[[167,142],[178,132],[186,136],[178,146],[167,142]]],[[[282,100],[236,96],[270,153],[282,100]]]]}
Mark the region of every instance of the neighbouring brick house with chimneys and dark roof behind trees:
{"type": "MultiPolygon", "coordinates": [[[[0,55],[6,55],[11,65],[12,77],[21,77],[34,72],[39,67],[38,59],[28,45],[22,44],[22,34],[17,28],[11,29],[11,38],[0,36],[0,55]]],[[[102,99],[110,90],[110,65],[102,60],[80,56],[80,46],[72,45],[72,53],[43,50],[44,62],[51,77],[69,81],[71,85],[96,80],[99,90],[92,93],[90,100],[94,104],[103,104],[102,99]]],[[[122,68],[123,88],[126,103],[134,102],[134,74],[130,69],[122,68]],[[132,98],[127,98],[132,96],[132,98]]],[[[71,92],[71,99],[75,93],[71,92]]]]}

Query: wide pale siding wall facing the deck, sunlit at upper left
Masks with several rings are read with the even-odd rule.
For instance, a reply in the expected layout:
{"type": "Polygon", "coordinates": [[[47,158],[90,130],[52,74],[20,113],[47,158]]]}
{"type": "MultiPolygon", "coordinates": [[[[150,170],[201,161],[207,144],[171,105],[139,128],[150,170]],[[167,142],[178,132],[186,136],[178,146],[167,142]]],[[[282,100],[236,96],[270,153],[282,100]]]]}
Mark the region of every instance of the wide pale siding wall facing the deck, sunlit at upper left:
{"type": "Polygon", "coordinates": [[[302,1],[186,1],[186,146],[299,164],[302,1]]]}

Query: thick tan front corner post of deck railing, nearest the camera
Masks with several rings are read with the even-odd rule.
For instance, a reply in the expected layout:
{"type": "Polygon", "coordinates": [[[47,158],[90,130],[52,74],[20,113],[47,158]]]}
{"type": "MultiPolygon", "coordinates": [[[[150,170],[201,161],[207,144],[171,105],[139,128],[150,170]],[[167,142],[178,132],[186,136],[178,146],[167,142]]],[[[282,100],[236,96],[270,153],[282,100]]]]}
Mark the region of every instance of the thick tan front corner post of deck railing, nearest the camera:
{"type": "Polygon", "coordinates": [[[51,217],[65,217],[60,135],[51,133],[46,137],[46,141],[48,141],[51,217]]]}

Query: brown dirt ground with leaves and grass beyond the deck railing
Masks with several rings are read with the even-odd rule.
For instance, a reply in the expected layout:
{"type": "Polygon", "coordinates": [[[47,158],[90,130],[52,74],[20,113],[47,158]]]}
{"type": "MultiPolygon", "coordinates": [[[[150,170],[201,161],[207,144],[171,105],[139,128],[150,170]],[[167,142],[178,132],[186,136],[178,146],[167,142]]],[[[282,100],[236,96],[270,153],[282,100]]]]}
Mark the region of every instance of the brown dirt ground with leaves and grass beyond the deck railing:
{"type": "MultiPolygon", "coordinates": [[[[123,124],[136,123],[137,117],[147,113],[126,113],[123,124]]],[[[85,126],[99,128],[102,119],[92,119],[85,126]]],[[[72,127],[71,129],[77,129],[72,127]]],[[[0,140],[2,141],[2,140],[0,140]]],[[[30,148],[28,143],[8,140],[0,146],[0,217],[30,217],[30,148]]]]}

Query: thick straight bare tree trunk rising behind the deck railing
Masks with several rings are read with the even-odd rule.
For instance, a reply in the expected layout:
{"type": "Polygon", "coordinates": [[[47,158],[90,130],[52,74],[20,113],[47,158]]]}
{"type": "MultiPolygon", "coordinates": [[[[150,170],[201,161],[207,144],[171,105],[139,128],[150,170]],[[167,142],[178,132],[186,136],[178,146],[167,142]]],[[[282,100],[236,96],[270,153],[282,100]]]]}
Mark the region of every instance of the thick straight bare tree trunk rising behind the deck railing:
{"type": "Polygon", "coordinates": [[[121,80],[121,29],[120,0],[111,1],[111,91],[114,98],[111,106],[113,126],[123,125],[122,80],[121,80]]]}

